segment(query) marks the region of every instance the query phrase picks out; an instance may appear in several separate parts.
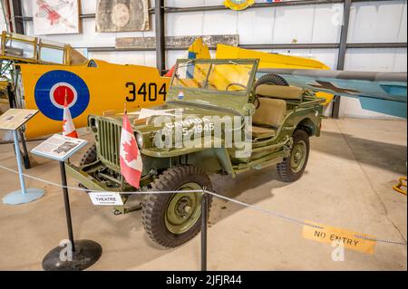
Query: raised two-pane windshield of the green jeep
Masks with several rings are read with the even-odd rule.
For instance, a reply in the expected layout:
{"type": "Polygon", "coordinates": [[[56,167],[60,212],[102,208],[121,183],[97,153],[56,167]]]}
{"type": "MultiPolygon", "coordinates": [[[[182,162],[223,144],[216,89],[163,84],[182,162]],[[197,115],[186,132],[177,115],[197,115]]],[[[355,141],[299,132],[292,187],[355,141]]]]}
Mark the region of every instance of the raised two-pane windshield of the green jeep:
{"type": "Polygon", "coordinates": [[[254,60],[179,60],[171,86],[246,94],[254,69],[254,60]]]}

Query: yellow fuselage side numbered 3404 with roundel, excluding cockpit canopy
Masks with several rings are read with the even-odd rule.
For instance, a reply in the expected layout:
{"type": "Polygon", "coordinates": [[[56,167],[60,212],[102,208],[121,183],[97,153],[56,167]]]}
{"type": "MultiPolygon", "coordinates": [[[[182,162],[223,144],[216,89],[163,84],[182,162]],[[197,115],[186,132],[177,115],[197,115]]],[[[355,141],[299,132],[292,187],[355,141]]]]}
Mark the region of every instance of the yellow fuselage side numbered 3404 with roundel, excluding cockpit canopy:
{"type": "Polygon", "coordinates": [[[61,132],[65,95],[75,127],[82,128],[88,115],[123,110],[124,101],[129,110],[160,105],[170,82],[153,67],[100,60],[76,66],[20,66],[25,108],[40,111],[26,125],[27,139],[61,132]]]}

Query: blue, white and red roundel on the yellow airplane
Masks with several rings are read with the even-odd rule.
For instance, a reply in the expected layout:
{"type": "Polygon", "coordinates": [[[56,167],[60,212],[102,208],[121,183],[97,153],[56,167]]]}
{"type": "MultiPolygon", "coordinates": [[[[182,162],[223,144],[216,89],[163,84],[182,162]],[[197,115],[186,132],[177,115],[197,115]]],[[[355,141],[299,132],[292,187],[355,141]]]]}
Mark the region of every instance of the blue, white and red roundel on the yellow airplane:
{"type": "Polygon", "coordinates": [[[52,120],[63,120],[65,97],[73,119],[89,105],[90,93],[83,79],[73,72],[46,72],[34,90],[35,103],[43,114],[52,120]]]}

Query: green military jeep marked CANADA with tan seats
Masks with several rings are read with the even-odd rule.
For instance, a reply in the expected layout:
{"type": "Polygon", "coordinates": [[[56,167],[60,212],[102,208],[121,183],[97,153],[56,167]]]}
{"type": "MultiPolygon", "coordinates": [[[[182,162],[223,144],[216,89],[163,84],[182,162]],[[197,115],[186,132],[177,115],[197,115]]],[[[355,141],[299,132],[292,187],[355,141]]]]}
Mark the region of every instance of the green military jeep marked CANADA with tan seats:
{"type": "MultiPolygon", "coordinates": [[[[257,66],[256,59],[179,60],[165,104],[129,113],[141,150],[141,190],[181,191],[141,200],[143,225],[161,246],[180,246],[199,233],[202,194],[182,191],[211,191],[211,174],[234,178],[277,165],[285,182],[302,176],[324,100],[278,85],[285,83],[277,75],[257,80],[257,66]]],[[[96,143],[79,168],[66,164],[68,173],[89,190],[134,191],[121,176],[122,115],[91,115],[88,122],[96,143]]],[[[129,195],[121,196],[126,205],[129,195]]]]}

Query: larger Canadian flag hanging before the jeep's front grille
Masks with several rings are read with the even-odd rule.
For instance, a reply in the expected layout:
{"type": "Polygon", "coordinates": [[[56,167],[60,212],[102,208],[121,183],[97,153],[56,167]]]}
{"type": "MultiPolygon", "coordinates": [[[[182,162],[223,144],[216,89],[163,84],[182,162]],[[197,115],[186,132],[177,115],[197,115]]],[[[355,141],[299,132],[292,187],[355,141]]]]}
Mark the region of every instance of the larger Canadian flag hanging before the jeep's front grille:
{"type": "Polygon", "coordinates": [[[125,111],[123,115],[123,125],[121,127],[121,175],[134,188],[141,188],[141,171],[143,164],[141,162],[141,152],[138,149],[133,130],[131,130],[131,121],[125,111]]]}

